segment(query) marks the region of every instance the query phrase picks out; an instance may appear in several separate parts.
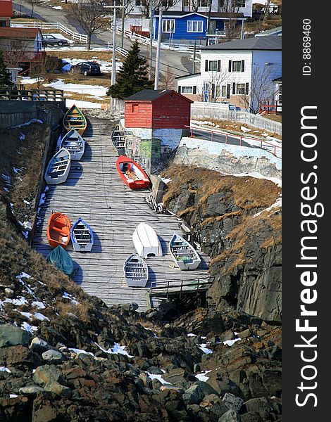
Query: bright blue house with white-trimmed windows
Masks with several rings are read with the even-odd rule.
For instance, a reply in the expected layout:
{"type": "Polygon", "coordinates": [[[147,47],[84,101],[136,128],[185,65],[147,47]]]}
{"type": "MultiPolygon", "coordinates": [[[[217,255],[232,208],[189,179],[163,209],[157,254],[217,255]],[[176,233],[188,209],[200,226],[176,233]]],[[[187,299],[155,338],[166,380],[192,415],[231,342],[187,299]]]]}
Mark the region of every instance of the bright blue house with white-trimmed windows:
{"type": "MultiPolygon", "coordinates": [[[[154,39],[158,38],[158,13],[154,15],[154,39]]],[[[226,37],[229,27],[240,32],[243,13],[211,13],[208,36],[226,37]]],[[[208,13],[206,12],[165,12],[162,15],[162,41],[175,44],[193,44],[206,39],[208,13]]]]}

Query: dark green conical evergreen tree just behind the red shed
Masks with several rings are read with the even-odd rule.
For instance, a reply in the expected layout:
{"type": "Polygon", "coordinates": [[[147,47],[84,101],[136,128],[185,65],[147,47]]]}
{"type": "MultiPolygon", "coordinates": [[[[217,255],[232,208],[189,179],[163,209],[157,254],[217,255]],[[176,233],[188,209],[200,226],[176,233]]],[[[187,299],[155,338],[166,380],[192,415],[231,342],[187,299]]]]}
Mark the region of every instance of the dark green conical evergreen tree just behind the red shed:
{"type": "Polygon", "coordinates": [[[139,58],[139,46],[137,41],[123,60],[116,82],[109,87],[108,96],[113,98],[126,98],[142,89],[154,89],[154,81],[149,81],[145,58],[139,58]]]}

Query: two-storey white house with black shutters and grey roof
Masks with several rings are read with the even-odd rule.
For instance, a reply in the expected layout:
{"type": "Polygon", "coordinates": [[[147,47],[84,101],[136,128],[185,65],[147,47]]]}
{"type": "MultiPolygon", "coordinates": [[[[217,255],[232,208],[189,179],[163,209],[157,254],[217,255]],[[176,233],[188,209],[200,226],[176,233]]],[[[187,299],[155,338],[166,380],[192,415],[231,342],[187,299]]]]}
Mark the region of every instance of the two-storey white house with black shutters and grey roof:
{"type": "Polygon", "coordinates": [[[256,113],[275,98],[282,75],[282,37],[253,37],[201,49],[201,72],[177,77],[177,91],[193,101],[230,101],[256,113]]]}

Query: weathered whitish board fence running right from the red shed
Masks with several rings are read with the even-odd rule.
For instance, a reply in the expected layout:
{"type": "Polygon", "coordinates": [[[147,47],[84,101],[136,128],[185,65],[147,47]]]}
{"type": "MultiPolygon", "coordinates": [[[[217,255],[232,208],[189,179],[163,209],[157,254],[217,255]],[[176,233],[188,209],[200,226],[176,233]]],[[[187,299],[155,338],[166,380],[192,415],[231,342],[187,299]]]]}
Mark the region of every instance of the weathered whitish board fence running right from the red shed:
{"type": "Polygon", "coordinates": [[[191,118],[242,122],[258,129],[268,130],[268,132],[279,135],[282,134],[282,124],[280,122],[275,122],[261,115],[247,113],[246,111],[227,110],[222,104],[218,103],[194,101],[191,105],[191,118]]]}

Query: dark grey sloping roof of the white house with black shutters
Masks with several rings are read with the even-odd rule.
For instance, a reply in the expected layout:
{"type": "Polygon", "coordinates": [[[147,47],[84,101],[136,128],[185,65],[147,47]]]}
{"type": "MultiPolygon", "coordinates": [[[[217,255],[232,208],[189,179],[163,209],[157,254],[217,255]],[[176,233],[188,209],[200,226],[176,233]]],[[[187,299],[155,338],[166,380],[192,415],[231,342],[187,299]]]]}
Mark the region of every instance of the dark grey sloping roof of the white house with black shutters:
{"type": "Polygon", "coordinates": [[[201,47],[204,50],[282,50],[282,37],[253,37],[201,47]]]}

